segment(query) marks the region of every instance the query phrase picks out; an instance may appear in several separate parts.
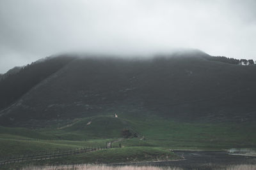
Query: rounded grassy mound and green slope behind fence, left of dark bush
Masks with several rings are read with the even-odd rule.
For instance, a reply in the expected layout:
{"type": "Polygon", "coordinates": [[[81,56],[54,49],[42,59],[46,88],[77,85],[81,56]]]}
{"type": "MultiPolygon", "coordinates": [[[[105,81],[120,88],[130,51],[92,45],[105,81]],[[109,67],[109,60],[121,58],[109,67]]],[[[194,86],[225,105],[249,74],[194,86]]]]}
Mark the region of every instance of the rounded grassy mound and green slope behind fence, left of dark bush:
{"type": "Polygon", "coordinates": [[[90,117],[61,128],[30,130],[0,127],[0,159],[70,148],[106,146],[120,138],[126,122],[114,117],[90,117]],[[90,125],[87,125],[91,122],[90,125]]]}

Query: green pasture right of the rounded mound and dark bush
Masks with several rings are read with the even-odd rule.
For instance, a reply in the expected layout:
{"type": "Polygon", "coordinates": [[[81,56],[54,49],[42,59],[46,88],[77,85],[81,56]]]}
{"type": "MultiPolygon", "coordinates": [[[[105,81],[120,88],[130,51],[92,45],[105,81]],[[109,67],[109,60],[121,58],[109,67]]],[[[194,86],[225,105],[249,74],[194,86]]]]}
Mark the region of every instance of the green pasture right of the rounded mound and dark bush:
{"type": "Polygon", "coordinates": [[[256,124],[175,122],[157,117],[141,121],[127,120],[145,140],[129,139],[124,146],[161,146],[218,150],[223,148],[256,148],[256,124]]]}

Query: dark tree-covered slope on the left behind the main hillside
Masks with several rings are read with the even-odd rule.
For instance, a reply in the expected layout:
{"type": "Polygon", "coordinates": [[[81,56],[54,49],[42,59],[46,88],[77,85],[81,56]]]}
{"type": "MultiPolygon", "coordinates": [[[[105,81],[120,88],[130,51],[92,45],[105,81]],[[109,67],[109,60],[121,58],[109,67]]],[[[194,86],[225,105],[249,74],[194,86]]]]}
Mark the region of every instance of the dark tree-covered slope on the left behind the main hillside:
{"type": "Polygon", "coordinates": [[[4,74],[4,79],[0,81],[0,109],[17,101],[28,90],[58,71],[72,59],[72,57],[49,58],[19,68],[19,70],[13,68],[8,71],[4,74]]]}

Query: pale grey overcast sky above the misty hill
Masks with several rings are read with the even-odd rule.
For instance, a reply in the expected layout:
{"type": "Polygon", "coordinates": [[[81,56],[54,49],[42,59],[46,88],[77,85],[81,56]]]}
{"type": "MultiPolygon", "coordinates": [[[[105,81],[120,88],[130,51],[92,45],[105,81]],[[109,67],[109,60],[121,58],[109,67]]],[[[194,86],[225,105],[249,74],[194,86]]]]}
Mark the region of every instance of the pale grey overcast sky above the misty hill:
{"type": "Polygon", "coordinates": [[[0,0],[0,73],[60,52],[256,60],[255,0],[0,0]]]}

